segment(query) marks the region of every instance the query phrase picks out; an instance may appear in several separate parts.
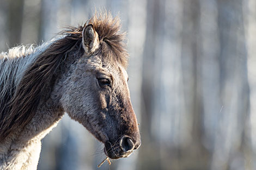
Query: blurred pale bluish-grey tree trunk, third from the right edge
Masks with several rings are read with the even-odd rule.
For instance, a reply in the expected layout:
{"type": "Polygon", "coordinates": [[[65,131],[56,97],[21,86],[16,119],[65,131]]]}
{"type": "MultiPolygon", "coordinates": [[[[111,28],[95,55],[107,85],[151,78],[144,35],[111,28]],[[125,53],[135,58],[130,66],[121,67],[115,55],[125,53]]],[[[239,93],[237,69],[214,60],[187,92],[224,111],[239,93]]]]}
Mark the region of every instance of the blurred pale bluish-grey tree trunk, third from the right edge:
{"type": "Polygon", "coordinates": [[[200,1],[199,84],[202,95],[202,140],[207,149],[214,150],[214,139],[222,104],[220,101],[220,36],[218,33],[217,1],[200,1]],[[209,24],[211,23],[211,24],[209,24]]]}

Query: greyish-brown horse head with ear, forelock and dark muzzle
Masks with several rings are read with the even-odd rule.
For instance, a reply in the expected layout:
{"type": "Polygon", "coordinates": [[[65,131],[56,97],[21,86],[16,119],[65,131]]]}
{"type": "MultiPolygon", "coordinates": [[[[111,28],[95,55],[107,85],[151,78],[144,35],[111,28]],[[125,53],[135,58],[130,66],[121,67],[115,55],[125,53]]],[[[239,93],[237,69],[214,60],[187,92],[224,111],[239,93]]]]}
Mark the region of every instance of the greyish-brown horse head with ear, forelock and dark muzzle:
{"type": "Polygon", "coordinates": [[[119,27],[109,17],[94,17],[83,27],[83,53],[70,66],[60,99],[65,112],[105,144],[111,159],[127,157],[141,144],[119,27]]]}

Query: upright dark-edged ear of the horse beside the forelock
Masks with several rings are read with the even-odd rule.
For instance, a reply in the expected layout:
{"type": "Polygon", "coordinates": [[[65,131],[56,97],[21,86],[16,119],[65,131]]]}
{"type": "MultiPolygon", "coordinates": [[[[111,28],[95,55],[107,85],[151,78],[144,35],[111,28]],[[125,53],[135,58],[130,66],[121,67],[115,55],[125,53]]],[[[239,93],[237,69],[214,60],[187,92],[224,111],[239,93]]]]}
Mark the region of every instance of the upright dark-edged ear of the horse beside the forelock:
{"type": "Polygon", "coordinates": [[[99,48],[99,35],[95,31],[93,24],[88,24],[83,28],[83,48],[84,51],[91,55],[99,48]]]}

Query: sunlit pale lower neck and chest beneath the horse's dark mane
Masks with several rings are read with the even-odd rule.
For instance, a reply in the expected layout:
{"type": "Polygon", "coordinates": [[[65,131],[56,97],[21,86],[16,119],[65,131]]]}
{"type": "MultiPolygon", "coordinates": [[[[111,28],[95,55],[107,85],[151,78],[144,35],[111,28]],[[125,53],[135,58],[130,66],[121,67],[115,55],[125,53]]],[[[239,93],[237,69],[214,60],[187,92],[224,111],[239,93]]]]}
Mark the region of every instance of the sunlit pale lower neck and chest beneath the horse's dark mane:
{"type": "Polygon", "coordinates": [[[0,169],[36,169],[41,139],[56,127],[63,114],[51,99],[41,103],[31,123],[0,144],[0,169]]]}

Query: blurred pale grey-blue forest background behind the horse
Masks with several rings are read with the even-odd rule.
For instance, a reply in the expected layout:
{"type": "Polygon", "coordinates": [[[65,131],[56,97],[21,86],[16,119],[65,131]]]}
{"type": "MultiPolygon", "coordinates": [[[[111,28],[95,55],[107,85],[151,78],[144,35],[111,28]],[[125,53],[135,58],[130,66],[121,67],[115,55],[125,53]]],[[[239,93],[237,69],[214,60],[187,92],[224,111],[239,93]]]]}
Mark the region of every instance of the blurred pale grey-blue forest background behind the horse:
{"type": "MultiPolygon", "coordinates": [[[[99,169],[256,169],[256,1],[0,0],[0,49],[40,45],[100,8],[127,32],[142,145],[99,169]]],[[[98,169],[105,158],[65,115],[38,169],[98,169]]]]}

